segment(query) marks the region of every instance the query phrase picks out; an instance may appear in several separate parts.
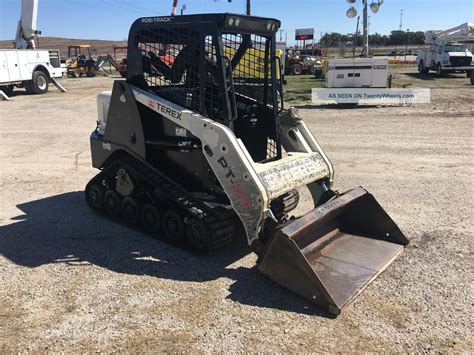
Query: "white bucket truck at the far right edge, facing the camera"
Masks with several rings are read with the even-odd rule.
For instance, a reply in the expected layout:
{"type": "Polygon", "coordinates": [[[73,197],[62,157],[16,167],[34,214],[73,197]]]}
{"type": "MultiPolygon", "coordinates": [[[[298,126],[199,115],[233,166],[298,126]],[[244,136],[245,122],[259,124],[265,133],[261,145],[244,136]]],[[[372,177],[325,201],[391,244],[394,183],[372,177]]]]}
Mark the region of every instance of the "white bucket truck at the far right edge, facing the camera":
{"type": "Polygon", "coordinates": [[[446,31],[426,31],[425,42],[429,48],[418,52],[418,71],[426,74],[436,71],[438,76],[456,71],[470,74],[474,70],[472,53],[466,46],[474,43],[474,25],[464,23],[446,31]]]}

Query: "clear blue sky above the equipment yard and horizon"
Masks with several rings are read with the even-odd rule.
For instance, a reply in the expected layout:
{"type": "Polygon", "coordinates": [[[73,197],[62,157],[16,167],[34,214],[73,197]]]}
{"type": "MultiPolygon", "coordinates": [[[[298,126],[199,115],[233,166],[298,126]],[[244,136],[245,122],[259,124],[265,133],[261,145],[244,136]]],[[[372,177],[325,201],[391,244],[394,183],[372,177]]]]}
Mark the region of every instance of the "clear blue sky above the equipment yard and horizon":
{"type": "MultiPolygon", "coordinates": [[[[123,40],[138,17],[169,15],[172,0],[38,0],[38,29],[42,36],[80,39],[123,40]]],[[[369,0],[369,2],[375,0],[369,0]]],[[[361,0],[356,9],[361,15],[361,0]]],[[[0,40],[13,39],[20,18],[21,0],[0,0],[0,40]]],[[[246,0],[179,0],[185,14],[244,13],[246,0]]],[[[296,28],[314,28],[321,33],[355,32],[356,18],[345,16],[346,0],[252,0],[252,15],[277,18],[283,39],[292,43],[296,28]]],[[[474,0],[385,0],[377,14],[370,13],[370,33],[389,34],[400,24],[403,30],[448,29],[474,22],[474,0]]],[[[279,39],[280,35],[277,36],[279,39]]]]}

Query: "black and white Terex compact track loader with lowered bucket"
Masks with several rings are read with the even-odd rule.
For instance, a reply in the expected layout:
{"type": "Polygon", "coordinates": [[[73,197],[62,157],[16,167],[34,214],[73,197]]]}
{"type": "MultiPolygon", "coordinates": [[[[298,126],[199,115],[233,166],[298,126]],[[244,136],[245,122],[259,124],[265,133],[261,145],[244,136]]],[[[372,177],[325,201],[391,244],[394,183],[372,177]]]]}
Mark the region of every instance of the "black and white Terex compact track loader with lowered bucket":
{"type": "Polygon", "coordinates": [[[233,14],[135,21],[126,80],[98,97],[101,171],[86,200],[198,251],[240,224],[264,274],[339,314],[408,241],[363,188],[331,189],[331,162],[283,109],[279,27],[233,14]],[[314,209],[290,217],[304,186],[314,209]]]}

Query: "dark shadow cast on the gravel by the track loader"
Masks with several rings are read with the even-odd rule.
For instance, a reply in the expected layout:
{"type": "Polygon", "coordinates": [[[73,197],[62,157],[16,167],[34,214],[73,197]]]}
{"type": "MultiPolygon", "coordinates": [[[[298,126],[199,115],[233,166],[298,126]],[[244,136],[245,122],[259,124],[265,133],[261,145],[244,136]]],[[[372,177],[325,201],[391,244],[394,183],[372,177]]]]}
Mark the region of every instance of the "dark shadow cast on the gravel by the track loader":
{"type": "Polygon", "coordinates": [[[0,226],[0,254],[18,265],[39,267],[90,263],[118,273],[178,281],[221,277],[235,282],[229,299],[242,304],[331,317],[278,286],[256,267],[228,267],[250,253],[236,240],[212,255],[194,255],[90,211],[83,192],[71,192],[17,206],[23,215],[0,226]]]}

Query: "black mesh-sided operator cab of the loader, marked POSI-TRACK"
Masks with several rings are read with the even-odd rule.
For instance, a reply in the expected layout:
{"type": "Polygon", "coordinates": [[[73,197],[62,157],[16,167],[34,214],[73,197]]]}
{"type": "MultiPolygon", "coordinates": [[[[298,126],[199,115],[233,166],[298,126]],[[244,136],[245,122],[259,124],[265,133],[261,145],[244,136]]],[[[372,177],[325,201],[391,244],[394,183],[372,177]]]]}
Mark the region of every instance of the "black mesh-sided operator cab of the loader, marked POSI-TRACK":
{"type": "Polygon", "coordinates": [[[279,159],[279,27],[233,14],[139,19],[130,30],[127,82],[228,126],[255,162],[279,159]]]}

